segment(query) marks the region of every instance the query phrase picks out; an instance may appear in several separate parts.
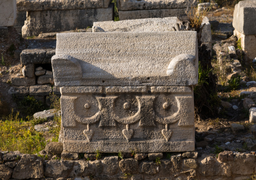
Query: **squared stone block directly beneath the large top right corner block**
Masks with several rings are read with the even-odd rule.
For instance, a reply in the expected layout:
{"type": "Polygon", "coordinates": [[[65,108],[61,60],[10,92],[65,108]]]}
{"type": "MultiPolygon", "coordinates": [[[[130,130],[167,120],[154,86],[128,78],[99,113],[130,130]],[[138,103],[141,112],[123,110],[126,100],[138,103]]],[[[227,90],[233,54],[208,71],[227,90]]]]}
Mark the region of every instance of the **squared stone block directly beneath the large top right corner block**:
{"type": "MultiPolygon", "coordinates": [[[[244,35],[234,30],[234,35],[237,39],[241,39],[242,50],[245,51],[246,56],[249,59],[254,59],[256,57],[256,37],[254,35],[244,35]]],[[[246,65],[251,64],[252,61],[245,62],[246,65]]]]}

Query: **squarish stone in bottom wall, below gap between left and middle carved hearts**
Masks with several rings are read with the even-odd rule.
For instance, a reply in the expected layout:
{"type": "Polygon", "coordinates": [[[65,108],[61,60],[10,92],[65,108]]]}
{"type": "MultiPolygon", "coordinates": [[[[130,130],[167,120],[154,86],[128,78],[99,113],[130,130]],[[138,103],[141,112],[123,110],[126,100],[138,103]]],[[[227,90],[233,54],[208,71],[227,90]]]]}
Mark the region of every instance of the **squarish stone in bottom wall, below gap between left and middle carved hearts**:
{"type": "Polygon", "coordinates": [[[118,156],[104,157],[103,161],[104,173],[114,175],[118,172],[118,156]]]}

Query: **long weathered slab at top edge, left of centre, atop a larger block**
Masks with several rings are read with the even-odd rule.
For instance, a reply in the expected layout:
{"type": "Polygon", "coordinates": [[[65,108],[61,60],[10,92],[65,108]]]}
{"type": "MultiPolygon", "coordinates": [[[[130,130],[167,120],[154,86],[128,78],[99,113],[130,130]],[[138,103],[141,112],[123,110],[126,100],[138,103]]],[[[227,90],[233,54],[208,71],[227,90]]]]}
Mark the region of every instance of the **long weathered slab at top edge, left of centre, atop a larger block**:
{"type": "Polygon", "coordinates": [[[108,8],[111,0],[17,0],[17,11],[83,10],[108,8]]]}

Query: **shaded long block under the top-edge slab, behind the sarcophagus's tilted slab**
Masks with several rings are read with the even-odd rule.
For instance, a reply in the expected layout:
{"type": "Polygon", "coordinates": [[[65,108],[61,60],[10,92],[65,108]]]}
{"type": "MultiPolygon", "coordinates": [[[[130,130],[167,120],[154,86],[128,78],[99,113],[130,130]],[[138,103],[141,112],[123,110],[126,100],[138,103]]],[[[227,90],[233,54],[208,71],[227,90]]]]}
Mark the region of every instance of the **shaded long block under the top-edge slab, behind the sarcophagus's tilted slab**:
{"type": "MultiPolygon", "coordinates": [[[[134,11],[118,11],[119,19],[122,20],[135,20],[145,18],[166,18],[183,15],[186,8],[179,9],[161,9],[161,10],[134,10],[134,11]]],[[[189,11],[190,9],[188,9],[189,11]]]]}

